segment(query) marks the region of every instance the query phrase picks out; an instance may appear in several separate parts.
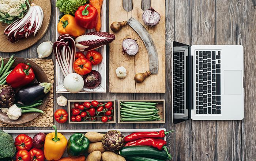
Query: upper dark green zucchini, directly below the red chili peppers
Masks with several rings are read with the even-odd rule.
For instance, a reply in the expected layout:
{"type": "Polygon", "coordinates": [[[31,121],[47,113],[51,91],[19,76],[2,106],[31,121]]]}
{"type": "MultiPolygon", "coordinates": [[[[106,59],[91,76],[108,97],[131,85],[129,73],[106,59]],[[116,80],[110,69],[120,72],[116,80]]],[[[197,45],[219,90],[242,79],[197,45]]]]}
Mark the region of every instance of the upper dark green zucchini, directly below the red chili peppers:
{"type": "Polygon", "coordinates": [[[151,146],[125,146],[119,151],[120,156],[129,157],[150,157],[162,160],[170,159],[165,150],[158,150],[151,146]]]}

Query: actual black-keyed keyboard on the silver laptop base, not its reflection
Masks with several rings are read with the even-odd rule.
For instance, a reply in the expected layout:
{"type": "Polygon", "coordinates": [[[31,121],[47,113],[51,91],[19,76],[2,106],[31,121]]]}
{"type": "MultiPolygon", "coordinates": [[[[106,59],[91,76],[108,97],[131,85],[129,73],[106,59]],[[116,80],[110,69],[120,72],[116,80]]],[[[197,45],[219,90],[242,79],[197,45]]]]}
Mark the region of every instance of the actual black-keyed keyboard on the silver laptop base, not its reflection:
{"type": "Polygon", "coordinates": [[[221,51],[196,51],[196,114],[221,114],[221,51]]]}

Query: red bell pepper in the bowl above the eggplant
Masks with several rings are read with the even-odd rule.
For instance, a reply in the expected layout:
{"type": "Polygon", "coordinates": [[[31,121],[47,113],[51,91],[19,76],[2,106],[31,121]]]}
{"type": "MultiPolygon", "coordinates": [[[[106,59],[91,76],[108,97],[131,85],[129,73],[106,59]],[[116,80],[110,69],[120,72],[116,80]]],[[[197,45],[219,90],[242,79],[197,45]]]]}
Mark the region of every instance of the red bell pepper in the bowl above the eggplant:
{"type": "Polygon", "coordinates": [[[18,88],[29,84],[34,78],[35,74],[30,64],[19,63],[7,76],[6,82],[10,84],[12,88],[18,88]]]}

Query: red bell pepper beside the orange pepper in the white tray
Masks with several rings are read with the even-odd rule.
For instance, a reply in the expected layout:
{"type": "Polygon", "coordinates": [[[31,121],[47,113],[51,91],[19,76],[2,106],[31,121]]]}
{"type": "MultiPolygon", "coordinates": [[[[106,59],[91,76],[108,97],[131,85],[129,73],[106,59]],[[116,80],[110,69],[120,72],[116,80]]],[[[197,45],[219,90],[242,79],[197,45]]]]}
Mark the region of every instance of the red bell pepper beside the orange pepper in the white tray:
{"type": "Polygon", "coordinates": [[[76,23],[86,29],[92,29],[98,21],[98,12],[95,7],[90,4],[82,5],[75,13],[76,23]]]}

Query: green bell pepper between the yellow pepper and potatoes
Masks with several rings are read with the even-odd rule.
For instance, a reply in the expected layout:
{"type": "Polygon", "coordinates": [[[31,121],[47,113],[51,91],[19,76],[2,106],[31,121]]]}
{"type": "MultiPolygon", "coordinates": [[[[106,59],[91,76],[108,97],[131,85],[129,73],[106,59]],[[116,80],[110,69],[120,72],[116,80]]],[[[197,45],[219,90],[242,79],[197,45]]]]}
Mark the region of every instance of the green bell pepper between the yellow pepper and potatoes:
{"type": "Polygon", "coordinates": [[[84,155],[89,148],[90,141],[81,133],[75,133],[68,139],[68,156],[71,158],[84,155]]]}

